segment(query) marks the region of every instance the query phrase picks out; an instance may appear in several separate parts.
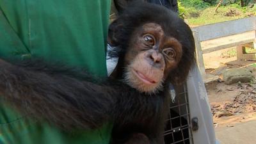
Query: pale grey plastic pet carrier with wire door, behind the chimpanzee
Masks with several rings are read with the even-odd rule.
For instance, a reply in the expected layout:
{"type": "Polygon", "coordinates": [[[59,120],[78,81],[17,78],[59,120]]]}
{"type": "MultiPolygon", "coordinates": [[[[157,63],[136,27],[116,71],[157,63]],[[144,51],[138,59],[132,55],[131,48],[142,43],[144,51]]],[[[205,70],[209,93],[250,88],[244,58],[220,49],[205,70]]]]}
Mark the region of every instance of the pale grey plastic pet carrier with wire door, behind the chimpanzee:
{"type": "MultiPolygon", "coordinates": [[[[170,92],[173,95],[172,90],[170,92]]],[[[186,84],[175,88],[166,129],[165,144],[218,144],[204,82],[195,66],[186,84]]]]}

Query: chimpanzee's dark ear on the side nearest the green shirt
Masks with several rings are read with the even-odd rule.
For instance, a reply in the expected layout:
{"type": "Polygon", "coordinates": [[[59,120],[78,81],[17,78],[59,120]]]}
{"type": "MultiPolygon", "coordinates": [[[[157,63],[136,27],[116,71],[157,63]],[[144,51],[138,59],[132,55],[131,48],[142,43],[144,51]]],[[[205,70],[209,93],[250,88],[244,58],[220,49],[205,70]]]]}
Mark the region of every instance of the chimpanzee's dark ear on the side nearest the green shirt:
{"type": "Polygon", "coordinates": [[[112,47],[119,45],[118,34],[124,25],[119,20],[114,20],[108,28],[108,44],[112,47]]]}

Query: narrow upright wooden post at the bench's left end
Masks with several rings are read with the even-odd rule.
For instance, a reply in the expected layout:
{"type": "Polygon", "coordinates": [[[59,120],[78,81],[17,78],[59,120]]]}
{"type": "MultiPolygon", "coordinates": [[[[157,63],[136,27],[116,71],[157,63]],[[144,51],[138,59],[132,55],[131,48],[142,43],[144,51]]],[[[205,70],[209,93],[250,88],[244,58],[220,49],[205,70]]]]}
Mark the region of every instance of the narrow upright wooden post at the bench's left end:
{"type": "Polygon", "coordinates": [[[195,46],[196,46],[196,63],[199,67],[201,75],[204,77],[205,76],[205,67],[204,67],[204,58],[203,58],[203,52],[202,52],[202,47],[200,44],[200,39],[198,36],[198,31],[193,31],[193,35],[195,38],[195,46]]]}

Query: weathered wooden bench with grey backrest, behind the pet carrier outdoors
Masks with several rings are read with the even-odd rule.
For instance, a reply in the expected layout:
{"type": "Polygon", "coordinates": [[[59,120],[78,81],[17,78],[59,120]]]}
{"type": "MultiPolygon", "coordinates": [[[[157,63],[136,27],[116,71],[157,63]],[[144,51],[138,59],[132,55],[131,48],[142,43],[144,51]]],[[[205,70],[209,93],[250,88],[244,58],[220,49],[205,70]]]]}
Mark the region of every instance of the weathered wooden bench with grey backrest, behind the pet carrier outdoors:
{"type": "MultiPolygon", "coordinates": [[[[203,54],[237,46],[239,47],[237,56],[243,57],[244,51],[241,48],[243,45],[251,44],[256,49],[255,16],[198,26],[192,28],[192,31],[196,44],[196,61],[203,77],[205,77],[203,54]]],[[[254,57],[256,60],[255,54],[254,57]]]]}

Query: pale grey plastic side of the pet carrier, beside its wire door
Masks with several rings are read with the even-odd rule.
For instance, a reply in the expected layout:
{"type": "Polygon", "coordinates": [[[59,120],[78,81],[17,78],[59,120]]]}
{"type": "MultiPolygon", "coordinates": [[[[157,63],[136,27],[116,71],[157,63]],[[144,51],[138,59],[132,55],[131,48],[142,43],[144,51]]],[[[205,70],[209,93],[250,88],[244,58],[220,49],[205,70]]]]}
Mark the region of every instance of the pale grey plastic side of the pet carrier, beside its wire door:
{"type": "Polygon", "coordinates": [[[192,131],[195,144],[215,144],[215,133],[208,96],[200,72],[195,65],[189,73],[188,99],[191,118],[198,118],[199,129],[192,131]]]}

